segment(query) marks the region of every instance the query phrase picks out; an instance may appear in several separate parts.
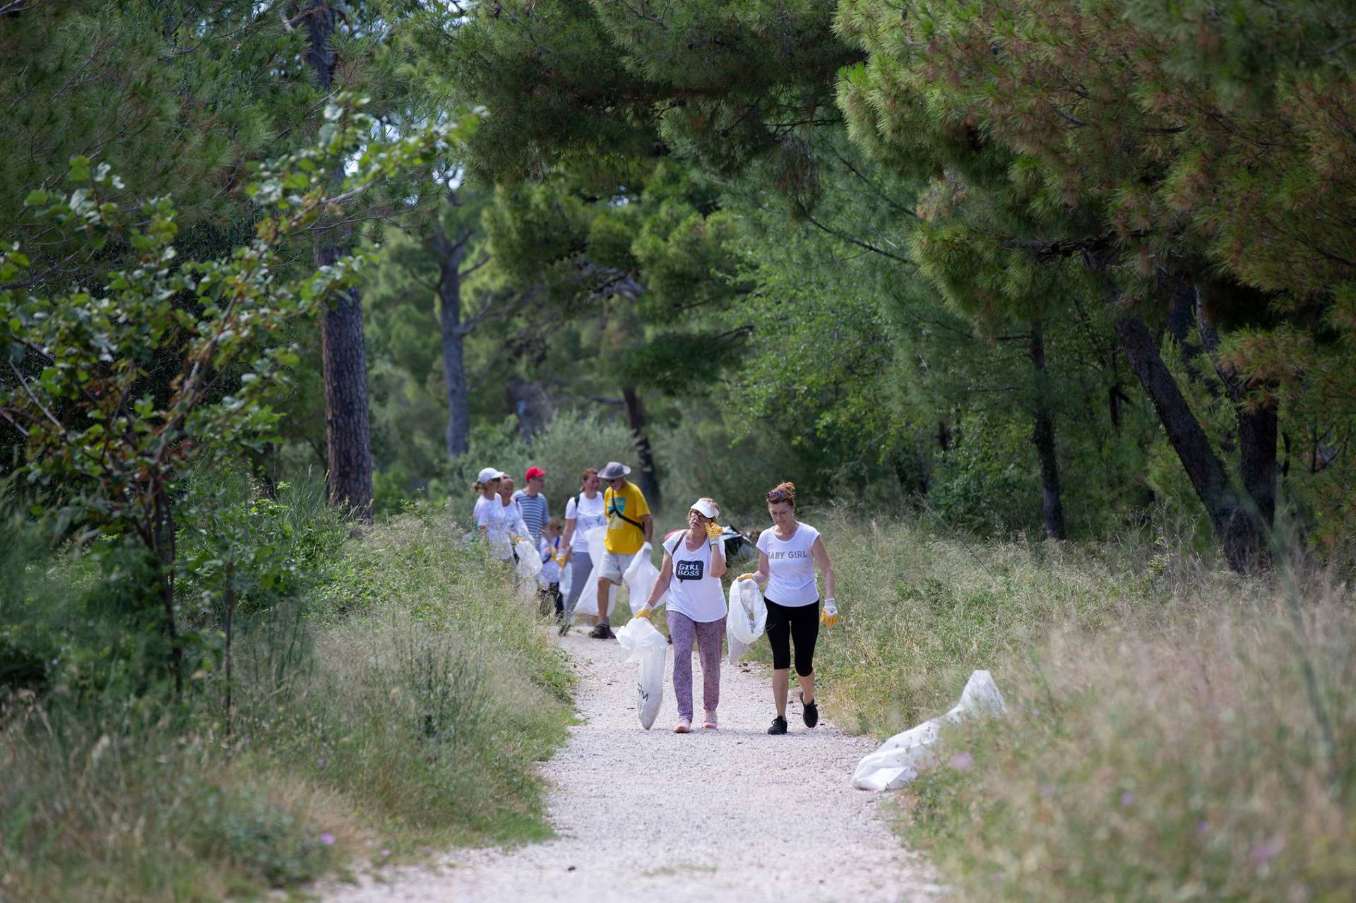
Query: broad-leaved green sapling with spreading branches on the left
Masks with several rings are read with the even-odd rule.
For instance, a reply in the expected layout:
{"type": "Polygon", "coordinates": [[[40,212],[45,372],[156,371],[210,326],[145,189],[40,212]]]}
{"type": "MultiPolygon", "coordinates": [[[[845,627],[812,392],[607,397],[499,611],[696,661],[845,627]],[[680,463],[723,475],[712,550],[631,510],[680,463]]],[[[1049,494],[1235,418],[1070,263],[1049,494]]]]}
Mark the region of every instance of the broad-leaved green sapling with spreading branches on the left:
{"type": "MultiPolygon", "coordinates": [[[[69,194],[35,190],[27,203],[91,259],[115,237],[136,249],[136,266],[110,273],[98,289],[52,289],[39,281],[39,289],[26,290],[20,277],[30,262],[20,244],[0,254],[0,283],[7,286],[0,289],[0,346],[16,381],[0,399],[0,415],[26,441],[19,473],[34,491],[57,499],[43,514],[60,531],[73,531],[77,541],[107,537],[100,546],[107,576],[121,569],[129,578],[126,588],[108,591],[117,605],[140,601],[126,611],[133,630],[155,632],[159,620],[176,686],[184,648],[190,659],[201,655],[191,632],[179,635],[172,594],[171,519],[183,473],[197,460],[258,450],[274,437],[278,415],[268,401],[297,362],[290,346],[273,340],[275,331],[353,285],[363,262],[343,258],[286,278],[282,249],[344,194],[422,164],[456,137],[431,127],[373,144],[366,141],[373,121],[347,98],[327,107],[325,121],[317,148],[258,169],[248,191],[266,216],[255,239],[226,259],[178,259],[172,201],[129,210],[114,199],[123,184],[108,165],[79,157],[69,194]],[[353,175],[334,193],[327,174],[338,160],[353,175]],[[165,361],[175,377],[157,397],[148,374],[165,361]],[[148,614],[157,601],[161,614],[148,614]]],[[[210,499],[188,499],[190,514],[195,503],[212,506],[210,499]]],[[[266,582],[277,579],[258,560],[237,563],[229,555],[195,564],[205,580],[224,569],[221,588],[232,593],[229,575],[237,564],[266,582]]]]}

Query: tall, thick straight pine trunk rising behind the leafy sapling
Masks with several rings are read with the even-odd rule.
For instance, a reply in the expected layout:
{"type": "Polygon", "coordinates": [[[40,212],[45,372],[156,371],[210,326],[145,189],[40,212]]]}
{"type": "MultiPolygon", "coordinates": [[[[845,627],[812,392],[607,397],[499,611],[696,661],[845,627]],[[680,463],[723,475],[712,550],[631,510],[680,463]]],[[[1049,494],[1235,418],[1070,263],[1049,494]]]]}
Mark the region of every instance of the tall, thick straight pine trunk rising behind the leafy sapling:
{"type": "MultiPolygon", "coordinates": [[[[335,11],[313,0],[305,11],[309,47],[306,60],[323,91],[332,83],[331,39],[335,11]]],[[[332,176],[342,178],[340,172],[332,176]]],[[[316,266],[334,264],[343,249],[323,233],[316,243],[316,266]]],[[[372,434],[367,423],[367,359],[362,336],[362,300],[354,290],[340,293],[320,320],[320,350],[325,381],[325,438],[330,446],[325,477],[330,504],[362,521],[372,521],[372,434]]]]}

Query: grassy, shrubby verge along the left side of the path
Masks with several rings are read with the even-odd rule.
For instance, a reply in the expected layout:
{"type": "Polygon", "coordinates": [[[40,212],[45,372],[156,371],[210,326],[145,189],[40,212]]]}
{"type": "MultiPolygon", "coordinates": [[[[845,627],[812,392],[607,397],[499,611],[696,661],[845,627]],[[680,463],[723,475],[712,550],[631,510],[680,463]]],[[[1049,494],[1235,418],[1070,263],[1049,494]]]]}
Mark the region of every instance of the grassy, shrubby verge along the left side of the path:
{"type": "MultiPolygon", "coordinates": [[[[220,673],[180,701],[76,693],[100,652],[58,649],[57,683],[0,723],[0,900],[254,898],[545,835],[533,765],[565,738],[571,675],[536,603],[453,533],[420,508],[323,542],[297,598],[241,616],[229,732],[220,673]]],[[[88,591],[77,561],[47,574],[30,595],[88,591]]]]}

